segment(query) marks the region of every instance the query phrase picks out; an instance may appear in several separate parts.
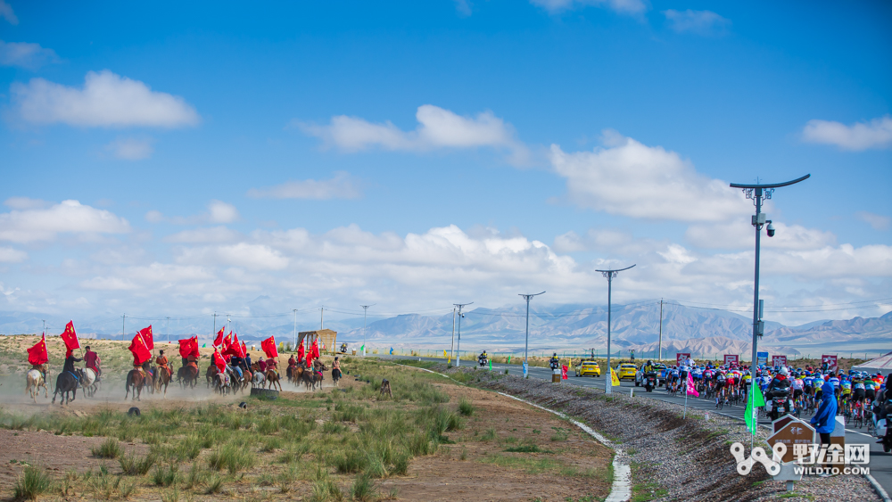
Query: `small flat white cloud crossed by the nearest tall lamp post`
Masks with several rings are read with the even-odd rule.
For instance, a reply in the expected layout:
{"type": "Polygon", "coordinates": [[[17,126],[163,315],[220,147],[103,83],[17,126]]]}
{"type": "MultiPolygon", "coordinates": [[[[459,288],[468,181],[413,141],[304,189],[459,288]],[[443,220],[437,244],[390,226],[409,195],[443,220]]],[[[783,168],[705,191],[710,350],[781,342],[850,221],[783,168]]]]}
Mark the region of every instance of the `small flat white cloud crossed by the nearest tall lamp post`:
{"type": "MultiPolygon", "coordinates": [[[[836,244],[836,235],[832,232],[801,225],[786,225],[780,221],[774,221],[773,225],[773,237],[768,237],[763,231],[763,248],[816,250],[836,244]]],[[[701,249],[748,250],[756,245],[755,234],[756,229],[751,219],[735,218],[726,223],[689,226],[684,237],[701,249]]]]}

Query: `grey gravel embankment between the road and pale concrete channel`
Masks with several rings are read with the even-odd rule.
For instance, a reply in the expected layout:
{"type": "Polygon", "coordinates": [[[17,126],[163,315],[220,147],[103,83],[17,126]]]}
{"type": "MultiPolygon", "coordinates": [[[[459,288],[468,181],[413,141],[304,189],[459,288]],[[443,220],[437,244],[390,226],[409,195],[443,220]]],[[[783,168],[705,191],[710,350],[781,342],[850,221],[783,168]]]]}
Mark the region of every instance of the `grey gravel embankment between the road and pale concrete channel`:
{"type": "MultiPolygon", "coordinates": [[[[445,365],[434,370],[474,372],[447,370],[445,365]]],[[[632,465],[633,486],[653,490],[654,500],[777,500],[785,496],[785,500],[881,502],[862,476],[805,477],[794,491],[801,497],[790,497],[785,483],[773,481],[762,465],[740,476],[731,443],[745,444],[748,455],[750,435],[742,422],[731,418],[709,414],[706,420],[703,412],[689,408],[682,419],[680,406],[656,399],[616,393],[607,397],[604,391],[483,371],[475,376],[476,385],[562,411],[622,442],[632,465]]],[[[768,431],[760,428],[756,446],[761,442],[767,449],[767,437],[768,431]]]]}

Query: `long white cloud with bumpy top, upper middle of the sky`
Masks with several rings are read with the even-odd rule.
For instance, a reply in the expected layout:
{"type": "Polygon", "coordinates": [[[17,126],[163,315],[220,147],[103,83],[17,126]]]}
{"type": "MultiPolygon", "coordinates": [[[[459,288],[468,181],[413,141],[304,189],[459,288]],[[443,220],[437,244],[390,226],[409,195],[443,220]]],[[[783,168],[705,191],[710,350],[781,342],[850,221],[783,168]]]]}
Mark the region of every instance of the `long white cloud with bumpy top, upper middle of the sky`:
{"type": "Polygon", "coordinates": [[[528,152],[524,144],[515,138],[514,128],[491,111],[478,113],[476,117],[463,117],[433,104],[418,107],[415,114],[418,127],[403,131],[390,121],[372,123],[358,117],[337,115],[327,126],[299,124],[310,136],[321,138],[326,146],[335,146],[347,152],[357,152],[370,147],[391,151],[425,152],[438,148],[491,147],[508,152],[515,163],[526,160],[528,152]]]}

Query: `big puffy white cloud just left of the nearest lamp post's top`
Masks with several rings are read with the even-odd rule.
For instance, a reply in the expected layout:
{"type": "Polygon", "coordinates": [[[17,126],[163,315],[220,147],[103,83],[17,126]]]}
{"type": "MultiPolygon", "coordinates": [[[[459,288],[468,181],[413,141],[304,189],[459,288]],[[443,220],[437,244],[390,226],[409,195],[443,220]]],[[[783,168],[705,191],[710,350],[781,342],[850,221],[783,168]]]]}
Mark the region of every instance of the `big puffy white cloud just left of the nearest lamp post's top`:
{"type": "Polygon", "coordinates": [[[606,133],[607,148],[566,153],[551,145],[551,165],[577,205],[632,218],[725,221],[749,211],[743,194],[699,174],[660,146],[606,133]]]}

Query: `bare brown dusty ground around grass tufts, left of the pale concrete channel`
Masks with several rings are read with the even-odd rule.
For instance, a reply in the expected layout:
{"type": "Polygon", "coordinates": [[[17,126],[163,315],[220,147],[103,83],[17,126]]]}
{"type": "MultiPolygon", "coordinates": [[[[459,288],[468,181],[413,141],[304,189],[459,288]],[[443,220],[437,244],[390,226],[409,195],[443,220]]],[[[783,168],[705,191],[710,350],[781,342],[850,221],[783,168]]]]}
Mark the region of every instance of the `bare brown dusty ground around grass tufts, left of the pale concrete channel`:
{"type": "MultiPolygon", "coordinates": [[[[342,381],[341,388],[365,385],[368,383],[355,381],[348,375],[342,381]]],[[[450,402],[446,406],[454,408],[458,399],[465,397],[473,402],[475,413],[467,417],[463,429],[447,434],[454,444],[442,445],[434,455],[413,458],[405,476],[392,475],[377,480],[381,498],[418,501],[519,499],[544,502],[565,501],[567,498],[599,500],[607,496],[612,475],[609,471],[612,452],[588,435],[555,416],[491,391],[452,383],[435,385],[450,395],[450,402]],[[505,451],[533,445],[542,452],[505,451]]],[[[318,423],[331,419],[330,414],[326,414],[325,400],[318,399],[319,392],[335,391],[330,381],[326,380],[326,387],[316,392],[306,392],[289,383],[284,383],[284,386],[285,392],[281,394],[277,406],[293,401],[293,406],[298,409],[315,410],[319,416],[318,423]]],[[[96,398],[87,399],[78,395],[78,399],[66,407],[60,407],[58,403],[51,406],[42,397],[35,404],[16,392],[14,399],[4,399],[3,409],[22,415],[55,413],[59,416],[85,417],[108,408],[126,411],[131,406],[140,407],[144,412],[152,408],[195,407],[210,402],[235,409],[237,403],[243,400],[248,401],[251,407],[271,406],[249,399],[247,392],[235,396],[216,396],[205,389],[203,381],[195,390],[182,391],[171,387],[167,397],[144,394],[143,400],[139,402],[129,399],[125,401],[122,391],[120,383],[110,383],[96,398]]],[[[373,399],[369,406],[414,405],[392,401],[378,403],[373,399]]],[[[355,425],[348,425],[355,430],[355,425]]],[[[103,440],[102,437],[79,436],[76,432],[74,435],[55,435],[53,432],[0,429],[0,444],[5,447],[0,449],[0,496],[11,496],[13,485],[26,464],[45,468],[56,481],[72,470],[84,473],[98,469],[99,465],[108,466],[111,473],[120,473],[116,460],[103,460],[91,455],[90,449],[103,440]]],[[[149,446],[140,440],[122,442],[121,446],[128,452],[135,451],[137,455],[145,455],[149,451],[149,446]]],[[[200,463],[209,452],[207,449],[202,451],[198,459],[200,463]]],[[[256,452],[259,459],[257,465],[240,477],[227,478],[227,489],[224,492],[204,495],[201,492],[182,490],[180,499],[310,500],[312,484],[306,478],[295,481],[287,493],[281,493],[276,486],[264,485],[260,481],[264,474],[277,473],[284,468],[276,461],[281,451],[263,453],[258,449],[256,452]]],[[[310,465],[314,463],[312,454],[305,456],[304,460],[310,465]]],[[[187,468],[188,465],[182,465],[181,472],[185,472],[187,468]]],[[[354,475],[336,474],[334,470],[330,473],[344,491],[349,489],[355,478],[354,475]]],[[[136,480],[137,488],[130,499],[169,498],[171,489],[154,487],[149,476],[131,479],[136,480]]],[[[58,489],[54,489],[41,498],[88,499],[91,494],[81,488],[70,491],[68,496],[62,498],[58,489]]]]}

